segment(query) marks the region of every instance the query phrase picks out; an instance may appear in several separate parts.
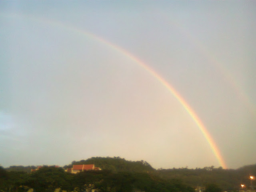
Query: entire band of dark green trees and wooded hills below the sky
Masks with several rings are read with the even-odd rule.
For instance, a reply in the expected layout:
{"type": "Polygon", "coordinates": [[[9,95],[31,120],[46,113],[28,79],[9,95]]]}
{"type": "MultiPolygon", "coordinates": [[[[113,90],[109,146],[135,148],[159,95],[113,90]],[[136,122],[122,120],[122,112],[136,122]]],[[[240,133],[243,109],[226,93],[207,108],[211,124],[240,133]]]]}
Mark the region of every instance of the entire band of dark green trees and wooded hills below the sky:
{"type": "Polygon", "coordinates": [[[237,170],[211,167],[173,168],[155,170],[147,162],[126,161],[120,157],[90,158],[73,164],[94,164],[102,170],[70,174],[63,168],[44,166],[30,173],[35,166],[0,167],[0,192],[54,192],[56,188],[66,191],[97,192],[194,192],[196,186],[205,192],[238,191],[241,183],[250,186],[250,174],[256,175],[256,164],[237,170]]]}

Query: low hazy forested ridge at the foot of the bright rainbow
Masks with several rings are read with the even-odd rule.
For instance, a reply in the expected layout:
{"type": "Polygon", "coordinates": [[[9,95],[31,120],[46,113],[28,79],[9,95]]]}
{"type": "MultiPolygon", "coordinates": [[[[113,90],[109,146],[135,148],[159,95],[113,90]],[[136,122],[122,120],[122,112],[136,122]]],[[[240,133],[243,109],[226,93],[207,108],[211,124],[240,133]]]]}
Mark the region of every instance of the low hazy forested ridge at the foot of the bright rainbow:
{"type": "MultiPolygon", "coordinates": [[[[223,191],[233,191],[239,190],[240,184],[250,186],[249,176],[256,176],[256,164],[236,170],[214,168],[214,166],[196,169],[160,169],[156,170],[156,174],[165,180],[180,179],[189,186],[206,186],[209,183],[214,183],[223,191]]],[[[256,180],[252,184],[256,186],[256,180]]]]}

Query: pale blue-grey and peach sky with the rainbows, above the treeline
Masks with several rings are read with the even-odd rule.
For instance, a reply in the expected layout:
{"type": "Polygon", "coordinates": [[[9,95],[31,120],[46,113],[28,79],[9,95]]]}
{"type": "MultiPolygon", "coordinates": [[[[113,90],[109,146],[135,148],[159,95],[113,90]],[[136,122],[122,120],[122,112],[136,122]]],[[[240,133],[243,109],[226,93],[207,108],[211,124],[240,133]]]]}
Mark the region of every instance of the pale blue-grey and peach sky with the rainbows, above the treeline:
{"type": "Polygon", "coordinates": [[[255,164],[255,23],[255,1],[1,1],[0,165],[255,164]]]}

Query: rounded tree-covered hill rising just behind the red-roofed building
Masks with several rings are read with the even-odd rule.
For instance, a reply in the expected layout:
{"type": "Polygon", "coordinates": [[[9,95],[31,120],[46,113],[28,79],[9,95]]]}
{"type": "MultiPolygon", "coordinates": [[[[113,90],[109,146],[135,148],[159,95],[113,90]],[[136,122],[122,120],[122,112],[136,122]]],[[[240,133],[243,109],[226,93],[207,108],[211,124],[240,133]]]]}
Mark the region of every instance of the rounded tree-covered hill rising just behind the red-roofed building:
{"type": "Polygon", "coordinates": [[[94,164],[95,167],[100,167],[102,170],[117,171],[132,171],[132,172],[152,172],[155,169],[143,160],[127,161],[120,157],[92,157],[87,160],[73,161],[72,164],[64,166],[64,168],[71,168],[76,164],[94,164]]]}

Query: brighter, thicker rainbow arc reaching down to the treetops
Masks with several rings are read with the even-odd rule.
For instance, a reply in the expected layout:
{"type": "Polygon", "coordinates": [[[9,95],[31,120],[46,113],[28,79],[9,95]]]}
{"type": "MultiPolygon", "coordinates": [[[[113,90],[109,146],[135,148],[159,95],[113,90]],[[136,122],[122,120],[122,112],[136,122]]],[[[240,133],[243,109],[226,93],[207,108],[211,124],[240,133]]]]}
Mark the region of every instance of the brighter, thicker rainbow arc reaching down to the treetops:
{"type": "Polygon", "coordinates": [[[226,163],[224,162],[224,159],[221,156],[220,150],[218,149],[217,145],[215,144],[214,140],[210,136],[209,132],[207,131],[206,127],[200,120],[200,118],[196,115],[194,110],[188,105],[188,103],[180,96],[180,94],[169,84],[164,78],[162,78],[158,73],[156,73],[152,68],[150,68],[148,65],[146,65],[144,62],[142,62],[140,59],[136,58],[134,55],[132,55],[130,52],[125,50],[122,47],[119,47],[115,44],[112,44],[111,42],[108,42],[107,40],[96,36],[95,34],[86,32],[84,30],[72,27],[72,26],[67,26],[61,22],[56,22],[52,20],[46,20],[44,18],[35,18],[34,16],[20,16],[20,15],[10,15],[11,17],[18,17],[18,18],[26,18],[27,20],[34,21],[34,22],[39,22],[39,23],[44,23],[48,24],[50,26],[58,27],[61,29],[66,29],[70,30],[74,33],[77,33],[82,36],[86,36],[87,38],[90,38],[92,40],[96,40],[97,42],[106,44],[110,48],[116,50],[117,52],[121,53],[122,55],[128,57],[130,60],[134,61],[136,64],[141,66],[144,70],[146,70],[149,74],[151,74],[154,78],[156,78],[163,86],[165,86],[171,93],[172,95],[180,102],[180,104],[186,109],[188,114],[192,117],[198,128],[201,130],[202,134],[206,138],[208,144],[210,145],[210,148],[212,149],[212,152],[216,156],[216,159],[218,160],[220,166],[223,168],[227,168],[226,163]]]}

